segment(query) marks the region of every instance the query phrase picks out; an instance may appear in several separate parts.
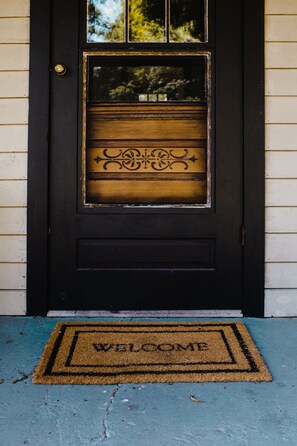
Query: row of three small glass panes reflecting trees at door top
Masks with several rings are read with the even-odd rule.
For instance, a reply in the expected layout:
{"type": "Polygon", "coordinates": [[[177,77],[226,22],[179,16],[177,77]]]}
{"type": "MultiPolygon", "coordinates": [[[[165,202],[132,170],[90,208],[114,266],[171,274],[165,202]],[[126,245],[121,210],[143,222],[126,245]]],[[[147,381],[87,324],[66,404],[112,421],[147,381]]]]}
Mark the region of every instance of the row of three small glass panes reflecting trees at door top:
{"type": "MultiPolygon", "coordinates": [[[[166,0],[89,0],[88,41],[125,41],[125,3],[130,42],[165,42],[166,0]]],[[[170,0],[170,41],[204,38],[204,0],[170,0]]]]}

